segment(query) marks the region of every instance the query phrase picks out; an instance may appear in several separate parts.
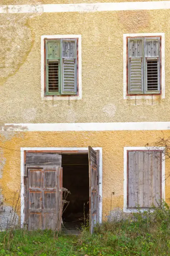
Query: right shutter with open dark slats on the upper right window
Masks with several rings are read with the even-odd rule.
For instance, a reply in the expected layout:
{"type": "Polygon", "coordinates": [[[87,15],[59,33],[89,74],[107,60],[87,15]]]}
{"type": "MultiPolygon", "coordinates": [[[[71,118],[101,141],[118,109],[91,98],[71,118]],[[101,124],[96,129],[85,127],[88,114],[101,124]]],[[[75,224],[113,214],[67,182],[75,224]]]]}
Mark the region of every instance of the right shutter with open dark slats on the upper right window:
{"type": "Polygon", "coordinates": [[[160,38],[145,38],[145,93],[160,93],[160,38]]]}

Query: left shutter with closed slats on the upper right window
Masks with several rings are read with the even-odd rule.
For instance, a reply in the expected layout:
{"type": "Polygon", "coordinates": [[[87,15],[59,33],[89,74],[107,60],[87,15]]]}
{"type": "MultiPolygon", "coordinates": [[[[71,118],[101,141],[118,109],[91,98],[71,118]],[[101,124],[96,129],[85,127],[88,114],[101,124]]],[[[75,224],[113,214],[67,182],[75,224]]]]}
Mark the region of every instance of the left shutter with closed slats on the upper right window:
{"type": "Polygon", "coordinates": [[[142,38],[128,38],[128,94],[143,94],[142,38]]]}

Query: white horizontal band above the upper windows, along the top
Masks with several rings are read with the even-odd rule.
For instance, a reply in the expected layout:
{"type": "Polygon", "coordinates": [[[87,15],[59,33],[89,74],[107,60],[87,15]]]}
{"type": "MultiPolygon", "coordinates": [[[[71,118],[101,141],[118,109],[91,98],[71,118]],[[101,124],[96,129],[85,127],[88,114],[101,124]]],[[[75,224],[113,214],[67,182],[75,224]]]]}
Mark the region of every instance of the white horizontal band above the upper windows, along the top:
{"type": "Polygon", "coordinates": [[[117,10],[158,10],[158,9],[170,9],[170,1],[42,4],[42,5],[0,5],[0,13],[62,13],[62,12],[97,12],[97,11],[117,11],[117,10]]]}

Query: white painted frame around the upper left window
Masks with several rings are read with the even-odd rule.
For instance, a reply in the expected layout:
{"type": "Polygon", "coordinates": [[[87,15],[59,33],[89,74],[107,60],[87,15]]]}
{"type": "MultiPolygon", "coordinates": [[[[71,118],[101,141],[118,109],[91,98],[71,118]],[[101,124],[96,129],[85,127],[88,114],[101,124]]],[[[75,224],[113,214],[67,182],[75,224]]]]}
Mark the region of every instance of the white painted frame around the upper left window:
{"type": "Polygon", "coordinates": [[[41,99],[42,100],[81,100],[82,99],[82,54],[81,54],[81,35],[43,35],[41,36],[41,99]],[[78,38],[78,95],[61,97],[61,95],[45,97],[45,63],[44,63],[44,39],[58,38],[78,38]]]}

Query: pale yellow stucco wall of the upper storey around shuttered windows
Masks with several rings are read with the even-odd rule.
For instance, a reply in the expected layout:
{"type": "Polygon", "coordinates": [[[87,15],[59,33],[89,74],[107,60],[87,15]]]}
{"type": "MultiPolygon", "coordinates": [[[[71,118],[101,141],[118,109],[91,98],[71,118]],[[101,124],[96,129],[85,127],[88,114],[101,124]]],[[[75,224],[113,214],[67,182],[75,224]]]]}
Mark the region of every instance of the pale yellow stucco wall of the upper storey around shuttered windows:
{"type": "Polygon", "coordinates": [[[170,10],[2,14],[0,22],[0,123],[169,120],[170,10]],[[165,99],[135,105],[123,100],[123,33],[154,32],[165,32],[165,99]],[[55,34],[82,35],[82,100],[53,106],[41,98],[40,36],[55,34]]]}

